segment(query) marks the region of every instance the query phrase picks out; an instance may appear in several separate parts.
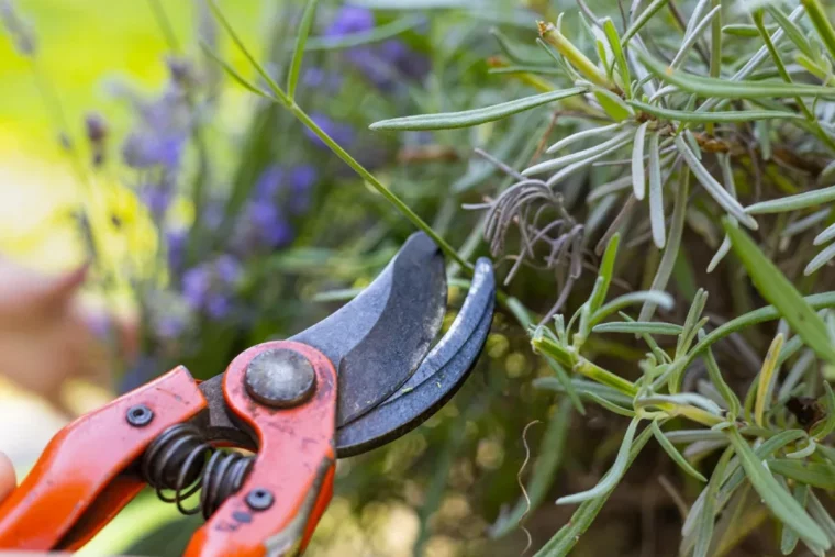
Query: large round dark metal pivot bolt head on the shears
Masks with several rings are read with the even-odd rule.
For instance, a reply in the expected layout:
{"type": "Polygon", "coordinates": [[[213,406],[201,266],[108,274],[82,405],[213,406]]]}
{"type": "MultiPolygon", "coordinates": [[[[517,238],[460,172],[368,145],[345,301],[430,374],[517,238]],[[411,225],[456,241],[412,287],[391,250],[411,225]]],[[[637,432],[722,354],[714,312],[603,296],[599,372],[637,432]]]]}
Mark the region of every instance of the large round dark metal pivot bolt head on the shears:
{"type": "Polygon", "coordinates": [[[313,394],[316,374],[310,360],[298,352],[276,348],[249,361],[244,385],[249,396],[261,404],[293,408],[313,394]]]}

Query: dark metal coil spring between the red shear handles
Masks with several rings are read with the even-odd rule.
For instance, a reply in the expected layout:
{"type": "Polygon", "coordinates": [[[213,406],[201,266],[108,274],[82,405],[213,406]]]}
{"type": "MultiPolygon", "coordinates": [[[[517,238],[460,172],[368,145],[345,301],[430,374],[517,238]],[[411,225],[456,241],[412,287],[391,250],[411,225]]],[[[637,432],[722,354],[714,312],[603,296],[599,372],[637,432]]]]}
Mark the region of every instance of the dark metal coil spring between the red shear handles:
{"type": "Polygon", "coordinates": [[[164,431],[145,450],[142,476],[156,489],[159,499],[175,503],[182,514],[202,511],[208,520],[241,489],[254,461],[254,457],[240,453],[218,450],[191,424],[177,424],[164,431]],[[183,502],[201,488],[200,502],[186,508],[183,502]]]}

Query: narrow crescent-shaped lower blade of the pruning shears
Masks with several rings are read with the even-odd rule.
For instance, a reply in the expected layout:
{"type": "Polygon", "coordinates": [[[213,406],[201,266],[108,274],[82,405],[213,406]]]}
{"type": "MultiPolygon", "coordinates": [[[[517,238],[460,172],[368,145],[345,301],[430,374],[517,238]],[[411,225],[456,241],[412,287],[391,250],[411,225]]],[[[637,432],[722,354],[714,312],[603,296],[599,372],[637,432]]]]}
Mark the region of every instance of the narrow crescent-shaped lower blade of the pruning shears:
{"type": "Polygon", "coordinates": [[[488,259],[479,259],[460,312],[421,367],[379,406],[338,426],[339,458],[365,453],[412,431],[455,394],[485,346],[494,298],[492,265],[488,259]]]}

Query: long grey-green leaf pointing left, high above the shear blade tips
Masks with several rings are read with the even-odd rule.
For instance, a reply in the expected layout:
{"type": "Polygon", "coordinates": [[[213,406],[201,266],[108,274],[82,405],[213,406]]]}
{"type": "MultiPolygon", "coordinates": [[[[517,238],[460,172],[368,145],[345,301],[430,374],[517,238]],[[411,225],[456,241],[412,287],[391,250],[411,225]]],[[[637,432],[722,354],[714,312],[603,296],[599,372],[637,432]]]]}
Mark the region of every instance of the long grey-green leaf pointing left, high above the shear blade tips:
{"type": "Polygon", "coordinates": [[[371,130],[453,130],[456,127],[469,127],[472,125],[493,122],[502,118],[524,112],[536,107],[542,107],[549,102],[567,99],[586,92],[584,87],[574,87],[561,91],[549,91],[546,93],[525,97],[501,104],[493,104],[482,109],[465,110],[463,112],[445,112],[441,114],[421,114],[415,116],[394,118],[391,120],[381,120],[375,122],[369,127],[371,130]]]}

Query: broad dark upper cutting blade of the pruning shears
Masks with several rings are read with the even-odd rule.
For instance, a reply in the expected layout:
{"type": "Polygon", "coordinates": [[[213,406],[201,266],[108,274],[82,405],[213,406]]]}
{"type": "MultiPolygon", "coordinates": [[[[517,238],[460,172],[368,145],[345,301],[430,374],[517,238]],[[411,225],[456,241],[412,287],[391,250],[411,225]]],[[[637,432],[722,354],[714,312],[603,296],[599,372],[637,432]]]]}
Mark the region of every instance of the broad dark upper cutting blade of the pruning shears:
{"type": "Polygon", "coordinates": [[[446,312],[444,256],[412,234],[354,300],[289,338],[323,353],[339,377],[337,427],[388,399],[430,349],[446,312]]]}

